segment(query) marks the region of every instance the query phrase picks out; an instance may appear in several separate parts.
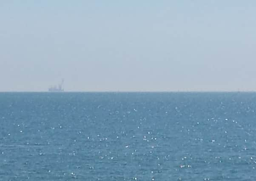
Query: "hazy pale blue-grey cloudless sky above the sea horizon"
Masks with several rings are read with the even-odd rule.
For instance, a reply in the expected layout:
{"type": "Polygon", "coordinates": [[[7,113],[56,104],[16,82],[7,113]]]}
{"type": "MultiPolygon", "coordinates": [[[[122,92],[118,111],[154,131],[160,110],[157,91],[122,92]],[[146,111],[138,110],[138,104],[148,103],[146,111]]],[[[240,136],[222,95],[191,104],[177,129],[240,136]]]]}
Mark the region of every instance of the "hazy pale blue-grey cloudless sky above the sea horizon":
{"type": "Polygon", "coordinates": [[[0,92],[256,91],[255,0],[0,0],[0,92]]]}

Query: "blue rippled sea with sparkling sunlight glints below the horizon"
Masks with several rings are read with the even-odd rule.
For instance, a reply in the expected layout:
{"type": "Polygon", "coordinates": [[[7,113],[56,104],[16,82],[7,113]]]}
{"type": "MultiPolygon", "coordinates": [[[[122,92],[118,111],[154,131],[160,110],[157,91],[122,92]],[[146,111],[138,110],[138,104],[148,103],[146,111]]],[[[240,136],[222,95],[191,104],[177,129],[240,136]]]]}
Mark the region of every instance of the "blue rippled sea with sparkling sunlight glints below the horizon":
{"type": "Polygon", "coordinates": [[[255,181],[256,93],[0,93],[2,181],[255,181]]]}

